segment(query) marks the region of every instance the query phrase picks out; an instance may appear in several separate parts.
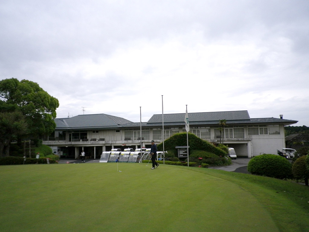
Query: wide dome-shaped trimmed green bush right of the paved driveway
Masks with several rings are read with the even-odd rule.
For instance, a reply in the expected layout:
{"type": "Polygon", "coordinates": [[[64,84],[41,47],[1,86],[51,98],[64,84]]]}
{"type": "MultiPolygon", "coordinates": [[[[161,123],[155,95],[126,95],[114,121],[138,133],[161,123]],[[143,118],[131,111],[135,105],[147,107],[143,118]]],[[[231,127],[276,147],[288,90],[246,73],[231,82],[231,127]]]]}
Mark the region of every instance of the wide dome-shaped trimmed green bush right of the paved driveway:
{"type": "Polygon", "coordinates": [[[277,179],[290,179],[292,178],[292,165],[281,156],[263,154],[249,161],[248,172],[277,179]]]}

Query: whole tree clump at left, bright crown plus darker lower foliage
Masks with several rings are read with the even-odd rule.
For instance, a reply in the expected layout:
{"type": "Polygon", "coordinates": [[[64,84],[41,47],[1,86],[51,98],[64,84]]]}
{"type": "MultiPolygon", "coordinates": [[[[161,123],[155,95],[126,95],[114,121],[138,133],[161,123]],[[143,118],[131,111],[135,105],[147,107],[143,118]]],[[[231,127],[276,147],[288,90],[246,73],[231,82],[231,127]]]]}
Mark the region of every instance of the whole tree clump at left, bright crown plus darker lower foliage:
{"type": "Polygon", "coordinates": [[[57,98],[29,80],[16,78],[0,81],[0,157],[9,155],[11,140],[28,136],[33,139],[50,134],[56,128],[57,98]],[[5,150],[5,152],[4,152],[5,150]]]}

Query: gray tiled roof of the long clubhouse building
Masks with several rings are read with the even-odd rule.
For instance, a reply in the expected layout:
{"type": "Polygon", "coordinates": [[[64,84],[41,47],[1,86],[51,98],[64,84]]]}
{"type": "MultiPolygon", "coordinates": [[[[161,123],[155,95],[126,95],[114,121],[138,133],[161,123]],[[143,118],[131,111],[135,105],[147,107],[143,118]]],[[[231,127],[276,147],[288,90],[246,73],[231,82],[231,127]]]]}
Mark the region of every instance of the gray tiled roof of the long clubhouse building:
{"type": "MultiPolygon", "coordinates": [[[[164,125],[184,126],[185,113],[164,114],[164,125]]],[[[284,124],[291,125],[298,121],[281,118],[250,118],[247,110],[241,111],[220,111],[188,113],[190,126],[210,126],[218,125],[219,120],[226,119],[226,124],[284,124]]],[[[131,122],[125,118],[120,118],[108,114],[86,114],[72,118],[56,118],[56,129],[100,129],[100,128],[119,128],[119,127],[140,127],[140,122],[131,122]]],[[[154,114],[148,122],[142,122],[142,127],[157,127],[162,125],[162,114],[154,114]]]]}

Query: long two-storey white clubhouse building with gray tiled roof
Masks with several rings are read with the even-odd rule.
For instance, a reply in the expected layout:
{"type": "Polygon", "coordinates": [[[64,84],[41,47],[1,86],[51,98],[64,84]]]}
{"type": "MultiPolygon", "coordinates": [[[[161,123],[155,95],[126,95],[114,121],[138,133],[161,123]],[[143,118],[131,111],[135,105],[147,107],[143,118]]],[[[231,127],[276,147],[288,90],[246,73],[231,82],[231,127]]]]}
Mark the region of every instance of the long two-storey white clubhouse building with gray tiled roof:
{"type": "MultiPolygon", "coordinates": [[[[114,148],[150,148],[180,132],[186,132],[185,113],[154,114],[148,122],[131,122],[108,114],[86,114],[71,118],[56,118],[55,131],[42,138],[54,154],[78,158],[82,150],[86,157],[99,159],[103,151],[114,148]],[[164,128],[164,131],[163,131],[164,128]]],[[[210,143],[234,148],[237,156],[254,157],[277,154],[286,147],[284,126],[298,121],[280,118],[250,118],[247,110],[188,113],[190,132],[210,143]],[[219,120],[226,126],[220,134],[219,120]]],[[[183,144],[180,144],[183,145],[183,144]]],[[[189,144],[190,145],[190,144],[189,144]]]]}

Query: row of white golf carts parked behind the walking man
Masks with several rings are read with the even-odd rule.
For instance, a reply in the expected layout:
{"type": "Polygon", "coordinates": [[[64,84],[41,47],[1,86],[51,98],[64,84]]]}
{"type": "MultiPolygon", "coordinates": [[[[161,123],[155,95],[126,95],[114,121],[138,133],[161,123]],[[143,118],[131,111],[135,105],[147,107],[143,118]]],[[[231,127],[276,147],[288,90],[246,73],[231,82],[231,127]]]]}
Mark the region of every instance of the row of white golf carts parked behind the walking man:
{"type": "MultiPolygon", "coordinates": [[[[123,152],[119,148],[112,149],[109,152],[102,152],[100,157],[100,163],[107,162],[128,162],[139,163],[143,160],[149,160],[150,148],[138,148],[133,151],[132,148],[126,148],[123,152]]],[[[163,159],[163,152],[157,152],[157,160],[163,159]]]]}

